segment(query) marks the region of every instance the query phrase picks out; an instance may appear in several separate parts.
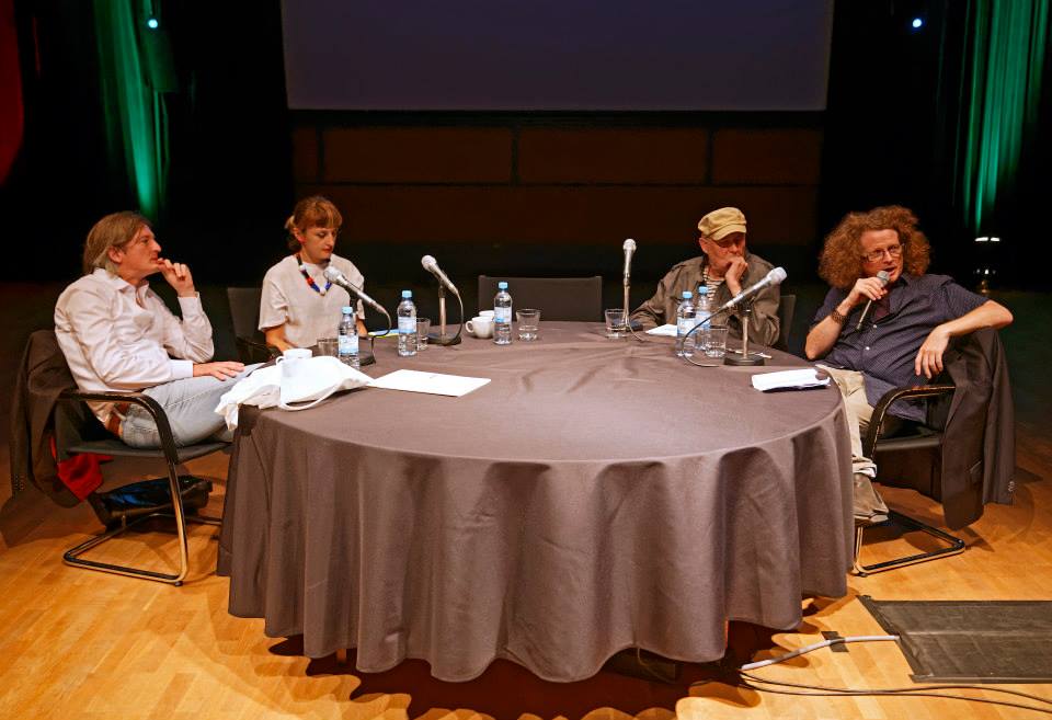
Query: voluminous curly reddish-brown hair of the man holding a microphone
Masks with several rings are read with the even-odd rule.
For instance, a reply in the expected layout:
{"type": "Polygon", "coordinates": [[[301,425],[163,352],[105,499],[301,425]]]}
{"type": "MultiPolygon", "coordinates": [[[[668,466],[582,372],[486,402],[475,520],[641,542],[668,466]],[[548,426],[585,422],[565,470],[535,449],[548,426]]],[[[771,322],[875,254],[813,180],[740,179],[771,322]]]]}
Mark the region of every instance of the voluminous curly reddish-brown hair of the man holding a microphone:
{"type": "Polygon", "coordinates": [[[901,205],[874,207],[868,213],[848,213],[825,236],[819,260],[819,275],[833,287],[849,289],[862,277],[859,239],[867,230],[894,230],[902,243],[903,272],[924,275],[931,261],[931,245],[917,229],[917,216],[901,205]]]}

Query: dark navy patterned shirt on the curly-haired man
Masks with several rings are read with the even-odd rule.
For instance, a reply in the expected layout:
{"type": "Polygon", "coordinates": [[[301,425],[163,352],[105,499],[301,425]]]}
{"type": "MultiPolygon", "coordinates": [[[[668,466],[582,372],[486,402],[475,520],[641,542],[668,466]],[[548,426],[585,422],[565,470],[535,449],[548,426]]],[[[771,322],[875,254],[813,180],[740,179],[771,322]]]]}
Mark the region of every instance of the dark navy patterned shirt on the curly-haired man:
{"type": "MultiPolygon", "coordinates": [[[[847,290],[831,289],[811,327],[824,320],[845,297],[847,290]]],[[[905,273],[890,286],[885,299],[887,315],[878,320],[867,320],[859,332],[855,331],[855,325],[866,304],[857,305],[833,348],[820,361],[831,367],[861,372],[866,381],[866,399],[871,405],[876,405],[881,396],[892,388],[925,385],[927,378],[914,374],[917,351],[925,339],[937,325],[960,318],[986,302],[982,295],[964,289],[947,275],[916,277],[905,273]]],[[[870,310],[870,318],[878,317],[873,310],[870,310]]],[[[923,402],[900,401],[891,412],[906,420],[924,420],[923,402]]]]}

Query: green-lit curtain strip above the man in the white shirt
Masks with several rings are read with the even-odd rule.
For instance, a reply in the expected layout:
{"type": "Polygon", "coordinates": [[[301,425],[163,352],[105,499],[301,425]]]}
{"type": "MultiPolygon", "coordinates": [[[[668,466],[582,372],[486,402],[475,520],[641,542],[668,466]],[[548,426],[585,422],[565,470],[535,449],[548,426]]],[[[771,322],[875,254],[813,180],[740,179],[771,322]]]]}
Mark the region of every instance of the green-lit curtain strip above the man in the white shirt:
{"type": "Polygon", "coordinates": [[[152,3],[94,0],[99,75],[112,170],[127,179],[138,209],[157,219],[163,210],[168,168],[168,116],[163,90],[150,82],[146,25],[152,3]]]}

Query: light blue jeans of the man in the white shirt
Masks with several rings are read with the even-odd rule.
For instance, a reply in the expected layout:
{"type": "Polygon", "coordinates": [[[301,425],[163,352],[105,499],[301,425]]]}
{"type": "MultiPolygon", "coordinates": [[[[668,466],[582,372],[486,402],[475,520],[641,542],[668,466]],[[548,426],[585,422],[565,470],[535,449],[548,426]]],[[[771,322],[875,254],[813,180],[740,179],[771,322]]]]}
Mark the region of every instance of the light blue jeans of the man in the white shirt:
{"type": "MultiPolygon", "coordinates": [[[[216,413],[216,405],[219,404],[219,398],[238,380],[258,367],[259,365],[250,365],[237,377],[226,380],[211,376],[187,377],[155,385],[142,392],[157,400],[164,409],[176,446],[193,445],[206,438],[229,443],[233,439],[233,433],[227,430],[222,415],[216,413]]],[[[157,432],[153,418],[139,405],[128,409],[128,414],[121,424],[121,439],[139,449],[161,446],[161,436],[157,432]]]]}

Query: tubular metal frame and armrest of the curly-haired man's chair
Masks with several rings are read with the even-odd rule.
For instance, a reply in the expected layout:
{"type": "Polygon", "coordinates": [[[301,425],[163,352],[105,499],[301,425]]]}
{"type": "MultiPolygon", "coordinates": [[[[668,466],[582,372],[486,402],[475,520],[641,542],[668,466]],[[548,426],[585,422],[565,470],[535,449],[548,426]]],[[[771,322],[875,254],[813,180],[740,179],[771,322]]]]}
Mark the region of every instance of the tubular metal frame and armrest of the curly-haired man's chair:
{"type": "MultiPolygon", "coordinates": [[[[931,432],[927,435],[921,437],[903,437],[903,438],[880,438],[880,431],[884,423],[884,419],[888,415],[888,410],[893,402],[901,400],[903,398],[933,398],[945,395],[952,395],[957,388],[952,385],[927,385],[919,388],[895,388],[889,390],[880,399],[880,402],[877,403],[877,407],[873,409],[873,415],[867,430],[866,437],[862,441],[862,452],[866,457],[874,457],[877,450],[881,447],[885,449],[924,449],[924,448],[934,448],[937,449],[942,444],[942,433],[941,432],[931,432]]],[[[895,558],[892,560],[885,560],[883,562],[876,562],[873,564],[864,565],[859,562],[859,552],[862,548],[862,538],[866,533],[866,525],[856,524],[855,525],[855,558],[854,558],[854,570],[853,572],[860,576],[865,578],[866,575],[871,575],[877,572],[887,572],[888,570],[894,570],[896,568],[904,568],[906,565],[916,564],[918,562],[928,562],[930,560],[938,560],[940,558],[947,558],[954,555],[960,555],[964,552],[965,545],[964,540],[961,538],[950,535],[945,530],[940,530],[937,527],[933,527],[927,523],[922,523],[918,519],[904,515],[900,512],[890,510],[888,513],[888,521],[885,523],[891,523],[906,528],[907,530],[921,530],[927,535],[934,537],[936,540],[942,542],[942,547],[936,548],[935,550],[929,550],[927,552],[917,552],[914,555],[904,556],[901,558],[895,558]]],[[[881,523],[879,525],[883,525],[881,523]]],[[[871,527],[878,527],[871,526],[871,527]]]]}

